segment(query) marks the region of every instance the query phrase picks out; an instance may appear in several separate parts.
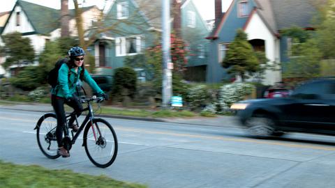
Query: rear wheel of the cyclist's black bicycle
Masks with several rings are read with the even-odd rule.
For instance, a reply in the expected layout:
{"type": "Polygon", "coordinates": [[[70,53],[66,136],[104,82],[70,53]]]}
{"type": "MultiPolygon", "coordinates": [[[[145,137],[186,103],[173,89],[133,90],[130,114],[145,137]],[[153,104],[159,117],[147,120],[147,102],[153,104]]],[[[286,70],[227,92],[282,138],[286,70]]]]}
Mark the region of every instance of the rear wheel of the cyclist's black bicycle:
{"type": "Polygon", "coordinates": [[[36,127],[37,143],[40,150],[50,159],[58,158],[60,155],[57,154],[56,115],[54,113],[46,113],[40,117],[36,127]]]}

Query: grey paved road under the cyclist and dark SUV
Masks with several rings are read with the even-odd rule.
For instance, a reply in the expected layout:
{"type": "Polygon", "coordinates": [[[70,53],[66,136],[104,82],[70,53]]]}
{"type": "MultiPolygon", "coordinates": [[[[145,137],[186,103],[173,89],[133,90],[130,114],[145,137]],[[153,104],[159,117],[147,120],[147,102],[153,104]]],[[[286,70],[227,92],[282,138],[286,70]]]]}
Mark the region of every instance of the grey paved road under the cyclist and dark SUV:
{"type": "Polygon", "coordinates": [[[335,187],[335,139],[288,134],[253,139],[235,127],[105,118],[119,139],[112,166],[91,164],[77,140],[71,157],[47,159],[34,126],[43,113],[0,109],[0,159],[71,169],[149,187],[335,187]]]}

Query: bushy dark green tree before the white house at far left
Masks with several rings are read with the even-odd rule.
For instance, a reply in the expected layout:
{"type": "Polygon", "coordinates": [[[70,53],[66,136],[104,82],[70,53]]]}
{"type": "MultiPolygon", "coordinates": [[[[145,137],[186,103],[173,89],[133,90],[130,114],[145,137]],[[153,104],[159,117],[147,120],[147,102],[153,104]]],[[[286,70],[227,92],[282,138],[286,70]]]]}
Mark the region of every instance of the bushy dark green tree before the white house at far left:
{"type": "Polygon", "coordinates": [[[6,54],[4,68],[14,64],[33,63],[35,52],[29,38],[22,38],[21,33],[18,32],[8,33],[3,36],[3,43],[6,54]]]}

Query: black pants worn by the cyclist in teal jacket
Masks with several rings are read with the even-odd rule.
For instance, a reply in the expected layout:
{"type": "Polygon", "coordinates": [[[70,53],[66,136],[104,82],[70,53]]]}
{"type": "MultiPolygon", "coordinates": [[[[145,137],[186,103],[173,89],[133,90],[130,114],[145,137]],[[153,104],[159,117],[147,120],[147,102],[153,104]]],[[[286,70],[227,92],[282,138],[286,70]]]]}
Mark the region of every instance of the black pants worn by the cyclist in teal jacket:
{"type": "MultiPolygon", "coordinates": [[[[72,107],[75,110],[75,113],[77,117],[80,116],[82,113],[82,104],[80,104],[77,100],[77,97],[75,97],[75,100],[71,100],[70,102],[67,102],[65,98],[63,97],[57,97],[56,95],[51,95],[51,104],[52,107],[54,107],[54,112],[57,116],[57,128],[56,128],[56,136],[57,136],[57,143],[58,147],[63,146],[62,139],[63,139],[63,130],[66,123],[65,118],[65,110],[64,110],[64,104],[68,104],[68,106],[72,107]]],[[[75,117],[71,117],[68,121],[68,125],[72,125],[75,122],[75,117]]]]}

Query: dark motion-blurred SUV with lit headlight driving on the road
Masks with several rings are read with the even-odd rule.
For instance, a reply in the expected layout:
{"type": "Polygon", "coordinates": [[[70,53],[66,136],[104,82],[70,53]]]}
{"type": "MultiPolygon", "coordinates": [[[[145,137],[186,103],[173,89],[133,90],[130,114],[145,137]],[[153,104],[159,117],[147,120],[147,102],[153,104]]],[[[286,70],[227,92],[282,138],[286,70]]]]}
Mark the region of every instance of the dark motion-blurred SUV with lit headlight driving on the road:
{"type": "Polygon", "coordinates": [[[241,125],[253,136],[284,132],[335,135],[335,79],[307,81],[288,97],[244,100],[231,109],[237,110],[241,125]]]}

